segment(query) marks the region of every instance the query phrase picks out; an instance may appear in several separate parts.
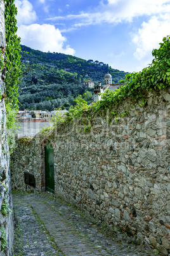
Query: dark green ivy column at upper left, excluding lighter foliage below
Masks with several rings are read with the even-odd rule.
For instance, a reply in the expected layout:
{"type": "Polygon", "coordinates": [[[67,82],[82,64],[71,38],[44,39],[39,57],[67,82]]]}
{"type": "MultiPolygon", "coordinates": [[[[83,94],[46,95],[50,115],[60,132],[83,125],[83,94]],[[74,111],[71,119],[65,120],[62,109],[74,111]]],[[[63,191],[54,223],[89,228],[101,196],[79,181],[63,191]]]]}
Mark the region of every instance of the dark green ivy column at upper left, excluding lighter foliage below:
{"type": "Polygon", "coordinates": [[[20,38],[16,31],[17,8],[14,0],[5,0],[6,27],[6,103],[18,110],[18,81],[22,75],[20,67],[20,38]]]}

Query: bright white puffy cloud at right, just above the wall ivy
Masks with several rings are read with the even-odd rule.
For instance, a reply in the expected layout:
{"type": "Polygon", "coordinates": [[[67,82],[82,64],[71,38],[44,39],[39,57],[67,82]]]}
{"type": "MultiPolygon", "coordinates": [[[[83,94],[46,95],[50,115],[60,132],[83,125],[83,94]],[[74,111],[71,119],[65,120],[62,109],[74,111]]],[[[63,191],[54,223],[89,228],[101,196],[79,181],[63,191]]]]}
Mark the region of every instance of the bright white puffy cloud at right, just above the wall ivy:
{"type": "Polygon", "coordinates": [[[154,16],[148,22],[143,22],[138,33],[133,35],[133,43],[136,45],[134,57],[145,62],[150,61],[153,48],[159,48],[162,38],[170,34],[169,27],[170,13],[154,16]]]}

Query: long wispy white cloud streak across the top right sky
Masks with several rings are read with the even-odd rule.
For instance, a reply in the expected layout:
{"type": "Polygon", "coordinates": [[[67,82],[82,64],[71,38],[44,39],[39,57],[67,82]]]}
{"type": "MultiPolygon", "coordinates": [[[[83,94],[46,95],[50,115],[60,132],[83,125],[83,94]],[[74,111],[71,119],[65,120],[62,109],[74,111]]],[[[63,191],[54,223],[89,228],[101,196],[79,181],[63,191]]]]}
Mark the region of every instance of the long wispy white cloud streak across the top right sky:
{"type": "Polygon", "coordinates": [[[170,11],[169,0],[108,0],[101,1],[93,13],[79,13],[65,17],[53,17],[49,20],[75,20],[74,27],[100,24],[103,22],[117,24],[131,22],[134,17],[157,15],[170,11]]]}

